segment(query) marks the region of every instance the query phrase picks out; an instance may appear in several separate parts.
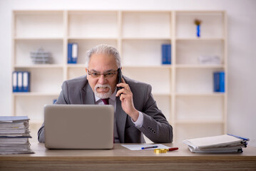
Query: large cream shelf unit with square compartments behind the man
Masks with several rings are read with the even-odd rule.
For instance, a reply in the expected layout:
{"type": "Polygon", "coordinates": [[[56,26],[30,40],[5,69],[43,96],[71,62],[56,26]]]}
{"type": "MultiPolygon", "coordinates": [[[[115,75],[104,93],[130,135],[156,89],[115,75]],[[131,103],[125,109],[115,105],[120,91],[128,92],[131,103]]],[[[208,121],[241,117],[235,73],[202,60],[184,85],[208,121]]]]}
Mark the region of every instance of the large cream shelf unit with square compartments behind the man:
{"type": "Polygon", "coordinates": [[[123,75],[153,86],[175,142],[226,133],[225,11],[19,10],[12,17],[12,71],[31,72],[31,92],[11,95],[12,115],[28,115],[33,128],[63,81],[86,73],[86,51],[107,43],[121,53],[123,75]],[[200,38],[195,19],[202,21],[200,38]],[[68,43],[78,43],[77,64],[66,62],[68,43]],[[171,43],[171,65],[161,64],[163,43],[171,43]],[[40,47],[51,52],[51,64],[32,63],[30,52],[40,47]],[[220,56],[221,63],[199,64],[201,55],[220,56]],[[213,92],[215,71],[225,71],[225,93],[213,92]]]}

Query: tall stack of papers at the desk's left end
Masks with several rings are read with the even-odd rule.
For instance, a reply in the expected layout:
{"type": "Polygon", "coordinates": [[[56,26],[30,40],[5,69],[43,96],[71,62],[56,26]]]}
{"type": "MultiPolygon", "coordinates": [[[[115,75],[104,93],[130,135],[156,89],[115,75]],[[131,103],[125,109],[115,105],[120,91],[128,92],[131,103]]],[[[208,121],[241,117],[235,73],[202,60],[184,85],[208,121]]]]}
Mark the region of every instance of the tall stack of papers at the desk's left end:
{"type": "Polygon", "coordinates": [[[0,154],[34,153],[30,149],[29,118],[0,116],[0,154]]]}

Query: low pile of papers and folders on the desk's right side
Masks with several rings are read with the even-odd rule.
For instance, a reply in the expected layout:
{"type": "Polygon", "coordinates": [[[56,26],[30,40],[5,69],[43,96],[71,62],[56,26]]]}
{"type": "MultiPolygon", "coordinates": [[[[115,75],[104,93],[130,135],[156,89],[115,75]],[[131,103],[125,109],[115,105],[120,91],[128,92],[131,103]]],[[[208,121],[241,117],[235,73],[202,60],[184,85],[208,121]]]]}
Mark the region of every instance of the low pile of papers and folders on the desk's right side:
{"type": "Polygon", "coordinates": [[[191,152],[198,153],[236,153],[242,152],[242,147],[247,146],[249,138],[235,135],[219,135],[205,138],[183,140],[191,152]]]}

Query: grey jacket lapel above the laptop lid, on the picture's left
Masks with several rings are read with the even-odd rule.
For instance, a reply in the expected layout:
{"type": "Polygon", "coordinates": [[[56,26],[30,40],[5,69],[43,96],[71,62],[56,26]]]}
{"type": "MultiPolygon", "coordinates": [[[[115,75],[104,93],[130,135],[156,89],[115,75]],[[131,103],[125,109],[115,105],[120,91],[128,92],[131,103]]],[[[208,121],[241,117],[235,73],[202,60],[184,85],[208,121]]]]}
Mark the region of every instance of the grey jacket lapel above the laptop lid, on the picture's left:
{"type": "Polygon", "coordinates": [[[95,105],[94,93],[87,81],[86,86],[80,89],[80,94],[82,104],[95,105]]]}

